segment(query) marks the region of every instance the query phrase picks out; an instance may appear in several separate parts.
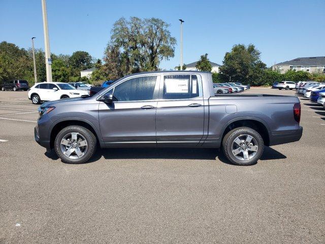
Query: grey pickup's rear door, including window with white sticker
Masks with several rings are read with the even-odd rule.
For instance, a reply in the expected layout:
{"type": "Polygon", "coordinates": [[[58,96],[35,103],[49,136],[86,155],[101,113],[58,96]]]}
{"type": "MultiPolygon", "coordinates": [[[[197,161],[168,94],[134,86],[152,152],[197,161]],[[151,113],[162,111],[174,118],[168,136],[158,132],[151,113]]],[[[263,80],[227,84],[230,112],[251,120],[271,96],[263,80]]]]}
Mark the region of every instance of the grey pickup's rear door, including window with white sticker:
{"type": "Polygon", "coordinates": [[[197,75],[165,75],[156,112],[158,146],[196,146],[203,137],[204,100],[197,75]]]}

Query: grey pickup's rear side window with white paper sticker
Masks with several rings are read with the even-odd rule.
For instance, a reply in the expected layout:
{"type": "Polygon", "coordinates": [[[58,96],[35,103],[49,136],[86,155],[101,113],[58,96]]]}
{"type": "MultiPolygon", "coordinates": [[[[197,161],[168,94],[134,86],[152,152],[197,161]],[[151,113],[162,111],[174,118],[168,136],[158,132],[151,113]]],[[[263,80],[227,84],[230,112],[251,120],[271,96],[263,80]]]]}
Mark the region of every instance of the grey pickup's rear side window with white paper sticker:
{"type": "Polygon", "coordinates": [[[165,75],[163,99],[190,99],[200,96],[196,75],[165,75]]]}

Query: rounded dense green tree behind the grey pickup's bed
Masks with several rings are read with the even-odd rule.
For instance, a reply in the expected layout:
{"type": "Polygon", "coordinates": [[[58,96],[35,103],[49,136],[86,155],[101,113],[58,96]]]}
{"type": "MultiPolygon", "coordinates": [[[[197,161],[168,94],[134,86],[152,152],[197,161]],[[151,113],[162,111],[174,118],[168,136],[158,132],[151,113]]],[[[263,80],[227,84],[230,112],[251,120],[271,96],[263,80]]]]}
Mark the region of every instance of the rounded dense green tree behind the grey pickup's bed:
{"type": "Polygon", "coordinates": [[[261,52],[252,44],[247,47],[242,44],[233,46],[231,52],[224,55],[223,65],[220,67],[222,79],[254,84],[266,70],[266,64],[261,61],[260,55],[261,52]]]}

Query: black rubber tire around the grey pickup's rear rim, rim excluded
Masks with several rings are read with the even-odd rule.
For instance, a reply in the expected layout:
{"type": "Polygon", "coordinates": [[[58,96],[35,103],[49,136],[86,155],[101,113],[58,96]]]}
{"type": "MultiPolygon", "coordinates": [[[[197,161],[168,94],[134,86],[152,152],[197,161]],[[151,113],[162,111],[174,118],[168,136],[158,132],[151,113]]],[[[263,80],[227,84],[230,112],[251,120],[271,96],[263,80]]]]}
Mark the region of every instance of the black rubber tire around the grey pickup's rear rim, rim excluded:
{"type": "MultiPolygon", "coordinates": [[[[250,144],[248,144],[250,145],[250,144]]],[[[245,144],[243,143],[243,147],[245,146],[245,144]]],[[[251,145],[250,145],[251,146],[251,145]]],[[[239,147],[239,146],[238,146],[239,147]]],[[[245,146],[246,148],[246,146],[245,146]]],[[[261,137],[261,135],[259,135],[259,133],[249,127],[239,127],[236,128],[230,132],[228,132],[225,137],[222,140],[222,151],[224,156],[233,164],[235,165],[253,165],[255,164],[262,156],[263,154],[263,150],[264,150],[264,141],[263,138],[261,137]],[[249,135],[252,136],[253,142],[255,141],[255,143],[257,144],[257,151],[256,154],[253,155],[254,153],[251,153],[251,157],[250,159],[247,160],[240,160],[238,158],[235,157],[235,155],[233,154],[233,144],[235,144],[235,139],[237,139],[237,137],[240,137],[241,135],[249,135]]],[[[240,157],[241,155],[243,155],[243,153],[239,153],[237,156],[240,157]]],[[[242,157],[243,158],[243,157],[242,157]]]]}

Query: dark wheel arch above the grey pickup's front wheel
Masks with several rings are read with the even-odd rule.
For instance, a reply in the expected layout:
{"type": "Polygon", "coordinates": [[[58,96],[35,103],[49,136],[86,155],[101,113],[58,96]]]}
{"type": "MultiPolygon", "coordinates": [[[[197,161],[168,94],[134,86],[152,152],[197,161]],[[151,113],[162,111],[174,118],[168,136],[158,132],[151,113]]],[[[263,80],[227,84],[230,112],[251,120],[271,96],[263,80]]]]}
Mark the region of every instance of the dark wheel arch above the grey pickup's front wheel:
{"type": "Polygon", "coordinates": [[[96,137],[97,142],[103,147],[104,141],[101,137],[100,132],[96,127],[86,119],[82,118],[69,118],[69,119],[60,119],[57,120],[55,124],[53,124],[52,128],[50,129],[50,147],[54,148],[54,140],[57,135],[57,133],[62,130],[63,128],[66,128],[68,126],[82,126],[89,131],[91,131],[94,136],[96,137]]]}

